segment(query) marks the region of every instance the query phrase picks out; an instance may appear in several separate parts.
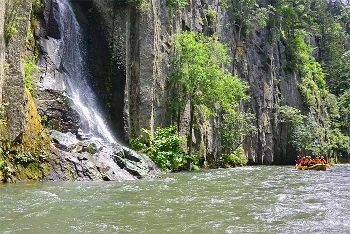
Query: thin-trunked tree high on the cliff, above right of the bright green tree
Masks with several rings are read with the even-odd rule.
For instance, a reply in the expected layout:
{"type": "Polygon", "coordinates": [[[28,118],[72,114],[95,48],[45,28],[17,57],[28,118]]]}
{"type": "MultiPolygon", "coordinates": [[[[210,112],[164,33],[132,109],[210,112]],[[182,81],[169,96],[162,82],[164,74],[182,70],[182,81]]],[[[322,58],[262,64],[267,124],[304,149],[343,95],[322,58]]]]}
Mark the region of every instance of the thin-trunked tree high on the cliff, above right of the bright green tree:
{"type": "Polygon", "coordinates": [[[250,44],[241,43],[243,28],[248,29],[254,27],[265,27],[267,15],[272,11],[272,7],[268,9],[260,7],[255,3],[255,0],[231,0],[232,19],[230,24],[233,30],[233,45],[232,45],[232,75],[235,75],[236,56],[239,48],[251,46],[250,44]]]}

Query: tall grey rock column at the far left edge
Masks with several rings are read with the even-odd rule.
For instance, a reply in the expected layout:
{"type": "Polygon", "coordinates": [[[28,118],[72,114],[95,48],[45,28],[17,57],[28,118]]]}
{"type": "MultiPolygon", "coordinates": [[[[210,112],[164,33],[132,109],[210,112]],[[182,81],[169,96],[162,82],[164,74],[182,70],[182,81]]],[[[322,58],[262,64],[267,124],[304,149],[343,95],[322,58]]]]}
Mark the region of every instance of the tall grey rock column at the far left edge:
{"type": "MultiPolygon", "coordinates": [[[[28,20],[22,20],[17,26],[18,33],[15,38],[9,42],[5,40],[6,14],[9,12],[10,5],[5,1],[0,4],[1,15],[0,23],[3,33],[0,36],[0,87],[1,101],[8,103],[5,110],[7,119],[6,129],[2,129],[2,135],[9,141],[14,141],[24,131],[24,50],[26,32],[28,29],[28,20]],[[15,113],[15,114],[14,114],[15,113]]],[[[24,1],[18,13],[19,18],[29,19],[31,2],[24,1]]]]}

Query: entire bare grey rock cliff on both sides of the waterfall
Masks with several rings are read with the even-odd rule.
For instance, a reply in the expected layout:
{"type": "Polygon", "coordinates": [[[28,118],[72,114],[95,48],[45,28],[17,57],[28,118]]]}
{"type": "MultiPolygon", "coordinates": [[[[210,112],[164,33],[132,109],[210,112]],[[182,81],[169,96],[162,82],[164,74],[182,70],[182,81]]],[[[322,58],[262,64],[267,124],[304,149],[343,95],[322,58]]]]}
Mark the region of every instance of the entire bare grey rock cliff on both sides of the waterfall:
{"type": "MultiPolygon", "coordinates": [[[[38,137],[26,134],[27,126],[35,126],[29,132],[40,134],[40,137],[44,135],[43,138],[47,139],[37,124],[41,116],[45,117],[41,118],[41,124],[47,128],[46,133],[51,135],[55,146],[46,141],[50,160],[40,164],[43,174],[39,173],[36,178],[114,180],[143,177],[156,171],[154,164],[145,162],[148,161],[146,156],[127,158],[127,149],[121,146],[102,144],[94,150],[100,143],[75,141],[76,137],[83,140],[85,136],[79,132],[79,115],[66,94],[62,63],[64,32],[59,24],[57,0],[44,1],[45,7],[34,12],[36,20],[31,27],[40,72],[32,80],[36,108],[26,111],[32,99],[25,94],[23,56],[24,53],[33,53],[25,51],[31,9],[30,1],[26,1],[27,5],[23,5],[20,14],[27,20],[19,25],[18,35],[7,44],[4,35],[0,34],[0,98],[3,103],[10,103],[5,114],[7,127],[1,130],[3,142],[13,145],[14,142],[23,142],[22,136],[38,137]],[[27,119],[34,119],[35,124],[26,124],[27,119]],[[109,156],[105,158],[107,163],[103,164],[97,158],[103,158],[104,153],[109,156]]],[[[260,2],[262,5],[273,4],[267,0],[260,2]]],[[[215,33],[221,42],[230,44],[235,30],[229,24],[229,9],[217,6],[216,0],[190,0],[184,9],[168,6],[165,0],[146,1],[144,8],[132,3],[72,1],[81,34],[88,42],[85,49],[88,51],[89,82],[100,103],[105,103],[104,108],[108,110],[119,141],[138,134],[140,128],[155,129],[156,126],[176,124],[177,119],[169,115],[168,101],[173,91],[166,82],[172,71],[174,34],[184,30],[207,35],[215,33]],[[216,23],[205,17],[204,9],[208,8],[217,9],[218,15],[222,16],[216,23]]],[[[9,6],[1,1],[0,32],[4,31],[8,10],[9,6]]],[[[241,108],[255,115],[258,129],[254,137],[244,141],[244,153],[250,163],[287,163],[294,155],[286,145],[287,129],[276,121],[276,106],[287,104],[303,108],[296,87],[298,77],[283,70],[286,63],[284,46],[273,35],[272,29],[265,27],[250,31],[244,40],[251,46],[238,53],[235,73],[250,86],[251,100],[241,108]]],[[[182,135],[188,135],[189,110],[185,112],[186,116],[179,123],[182,135]]],[[[195,116],[197,127],[192,141],[209,161],[213,161],[220,153],[220,119],[206,120],[200,112],[195,116]]],[[[25,177],[30,176],[22,176],[25,177]]]]}

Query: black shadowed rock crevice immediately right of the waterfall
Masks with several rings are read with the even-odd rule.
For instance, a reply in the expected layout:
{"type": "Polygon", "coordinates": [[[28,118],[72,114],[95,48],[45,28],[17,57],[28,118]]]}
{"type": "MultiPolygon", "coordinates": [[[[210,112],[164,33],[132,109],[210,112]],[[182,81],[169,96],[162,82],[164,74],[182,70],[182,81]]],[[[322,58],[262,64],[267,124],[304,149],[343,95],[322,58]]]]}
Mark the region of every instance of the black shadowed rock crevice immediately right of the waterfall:
{"type": "MultiPolygon", "coordinates": [[[[113,11],[119,5],[113,4],[113,11]]],[[[125,66],[120,60],[118,44],[110,43],[107,35],[111,33],[117,40],[121,35],[105,32],[100,12],[92,1],[72,1],[79,26],[86,41],[86,65],[90,70],[88,77],[91,87],[100,99],[100,105],[108,112],[108,118],[118,140],[123,139],[123,108],[126,81],[125,66]]],[[[116,20],[116,19],[113,19],[116,20]]]]}

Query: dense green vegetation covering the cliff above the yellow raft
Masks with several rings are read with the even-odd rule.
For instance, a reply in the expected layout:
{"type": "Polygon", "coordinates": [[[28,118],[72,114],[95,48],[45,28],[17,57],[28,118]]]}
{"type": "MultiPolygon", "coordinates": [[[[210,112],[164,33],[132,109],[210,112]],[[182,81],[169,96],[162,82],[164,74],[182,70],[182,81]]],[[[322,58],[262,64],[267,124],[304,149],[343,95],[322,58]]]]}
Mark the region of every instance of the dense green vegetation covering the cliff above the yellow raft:
{"type": "Polygon", "coordinates": [[[279,107],[282,123],[291,124],[288,143],[299,153],[349,160],[349,19],[343,1],[276,1],[276,17],[286,47],[286,69],[300,78],[298,89],[306,115],[279,107]]]}

